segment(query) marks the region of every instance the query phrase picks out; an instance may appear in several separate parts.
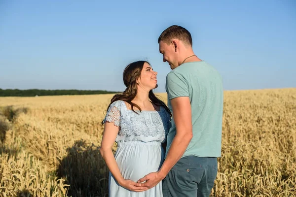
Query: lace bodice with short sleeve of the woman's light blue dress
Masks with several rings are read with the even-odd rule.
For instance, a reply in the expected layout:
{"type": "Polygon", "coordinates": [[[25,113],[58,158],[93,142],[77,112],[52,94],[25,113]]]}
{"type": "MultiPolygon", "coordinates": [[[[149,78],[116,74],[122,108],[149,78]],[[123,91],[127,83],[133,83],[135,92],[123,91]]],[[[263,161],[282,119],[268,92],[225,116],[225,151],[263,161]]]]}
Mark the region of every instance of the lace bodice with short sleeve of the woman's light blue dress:
{"type": "Polygon", "coordinates": [[[119,127],[115,141],[164,141],[170,129],[170,114],[163,107],[160,111],[137,112],[128,110],[122,100],[110,105],[104,122],[119,127]]]}

